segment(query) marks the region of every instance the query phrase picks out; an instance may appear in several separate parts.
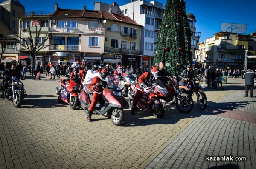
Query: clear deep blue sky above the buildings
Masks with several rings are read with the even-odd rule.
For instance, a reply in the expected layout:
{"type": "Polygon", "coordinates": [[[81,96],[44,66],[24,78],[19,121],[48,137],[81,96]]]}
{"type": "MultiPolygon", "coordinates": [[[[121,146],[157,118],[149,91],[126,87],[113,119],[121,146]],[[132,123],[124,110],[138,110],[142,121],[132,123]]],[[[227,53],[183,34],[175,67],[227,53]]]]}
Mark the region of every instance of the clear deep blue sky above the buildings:
{"type": "MultiPolygon", "coordinates": [[[[98,2],[119,6],[127,4],[130,0],[96,0],[98,2]]],[[[151,1],[151,0],[148,0],[151,1]]],[[[156,0],[166,4],[167,0],[156,0]]],[[[25,11],[54,11],[54,4],[58,3],[63,9],[94,9],[94,0],[19,0],[25,7],[25,11]]],[[[247,25],[247,34],[251,30],[256,32],[256,0],[185,0],[186,12],[195,15],[196,31],[201,32],[200,42],[206,38],[213,37],[213,34],[221,31],[221,23],[238,23],[247,25]]]]}

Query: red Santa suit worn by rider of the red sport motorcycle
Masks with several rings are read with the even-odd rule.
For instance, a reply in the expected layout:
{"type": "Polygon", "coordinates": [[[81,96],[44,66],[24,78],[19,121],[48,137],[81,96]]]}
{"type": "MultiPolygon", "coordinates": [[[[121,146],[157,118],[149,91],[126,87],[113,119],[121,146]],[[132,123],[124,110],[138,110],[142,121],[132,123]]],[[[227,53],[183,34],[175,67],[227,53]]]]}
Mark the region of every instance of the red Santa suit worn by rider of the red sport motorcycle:
{"type": "Polygon", "coordinates": [[[154,76],[152,76],[152,74],[148,73],[148,72],[143,73],[139,77],[138,82],[136,84],[136,88],[137,88],[136,95],[135,95],[134,100],[132,102],[133,105],[137,105],[137,103],[138,103],[138,101],[140,99],[140,96],[143,94],[143,90],[140,89],[139,84],[146,83],[146,84],[149,85],[150,84],[149,80],[154,80],[154,76]]]}

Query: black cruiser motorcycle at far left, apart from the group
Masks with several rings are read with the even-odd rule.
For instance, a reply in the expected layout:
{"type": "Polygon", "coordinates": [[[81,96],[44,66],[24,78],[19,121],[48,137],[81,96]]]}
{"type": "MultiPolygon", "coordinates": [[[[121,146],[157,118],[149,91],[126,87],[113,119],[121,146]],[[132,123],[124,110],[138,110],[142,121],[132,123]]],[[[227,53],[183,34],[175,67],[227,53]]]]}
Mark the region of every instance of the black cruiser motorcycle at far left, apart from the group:
{"type": "Polygon", "coordinates": [[[9,84],[9,87],[4,90],[2,99],[7,99],[9,101],[12,101],[12,104],[14,107],[21,107],[24,97],[27,96],[26,90],[24,89],[24,85],[20,80],[24,80],[24,77],[21,77],[20,79],[17,78],[17,76],[8,76],[1,71],[1,74],[4,76],[10,78],[11,80],[8,80],[7,83],[9,84]]]}

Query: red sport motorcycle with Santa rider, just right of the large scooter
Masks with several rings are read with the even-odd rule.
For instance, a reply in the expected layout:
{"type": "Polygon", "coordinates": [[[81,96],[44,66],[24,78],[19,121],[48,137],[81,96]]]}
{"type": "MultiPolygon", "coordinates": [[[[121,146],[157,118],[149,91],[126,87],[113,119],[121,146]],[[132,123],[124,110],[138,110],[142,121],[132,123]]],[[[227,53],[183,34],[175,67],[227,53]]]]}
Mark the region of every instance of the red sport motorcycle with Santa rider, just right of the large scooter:
{"type": "MultiPolygon", "coordinates": [[[[142,88],[144,93],[138,101],[137,108],[153,113],[157,118],[163,118],[166,112],[166,101],[162,97],[166,97],[167,90],[160,80],[154,80],[151,84],[152,86],[150,87],[142,88]]],[[[130,108],[137,91],[135,86],[136,83],[131,83],[128,91],[130,108]]]]}

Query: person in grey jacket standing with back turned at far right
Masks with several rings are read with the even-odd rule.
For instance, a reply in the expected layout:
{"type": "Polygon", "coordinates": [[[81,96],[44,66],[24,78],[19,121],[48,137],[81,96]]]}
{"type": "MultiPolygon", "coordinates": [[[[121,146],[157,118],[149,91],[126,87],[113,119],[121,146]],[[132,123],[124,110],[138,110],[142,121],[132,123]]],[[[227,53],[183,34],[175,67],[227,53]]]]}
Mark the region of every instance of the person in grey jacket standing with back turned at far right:
{"type": "Polygon", "coordinates": [[[246,73],[244,73],[243,79],[245,79],[245,95],[244,97],[248,97],[248,92],[250,90],[250,97],[253,97],[253,86],[254,86],[254,78],[256,77],[255,73],[252,70],[248,69],[246,73]]]}

